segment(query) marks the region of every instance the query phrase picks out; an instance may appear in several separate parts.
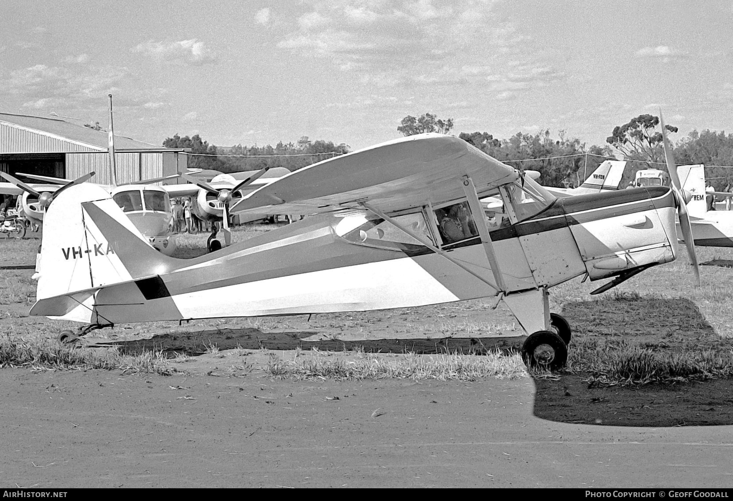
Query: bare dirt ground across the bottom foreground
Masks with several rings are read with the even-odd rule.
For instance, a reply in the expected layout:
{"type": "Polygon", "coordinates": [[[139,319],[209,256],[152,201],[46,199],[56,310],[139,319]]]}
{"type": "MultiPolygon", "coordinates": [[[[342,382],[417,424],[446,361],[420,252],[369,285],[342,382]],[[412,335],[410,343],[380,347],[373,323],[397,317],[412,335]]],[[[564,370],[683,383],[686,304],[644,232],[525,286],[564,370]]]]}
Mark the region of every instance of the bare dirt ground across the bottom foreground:
{"type": "MultiPolygon", "coordinates": [[[[557,423],[537,417],[542,393],[528,378],[339,382],[257,371],[4,369],[0,486],[730,485],[729,427],[557,423]]],[[[580,396],[570,402],[593,406],[600,419],[613,414],[580,396]]]]}

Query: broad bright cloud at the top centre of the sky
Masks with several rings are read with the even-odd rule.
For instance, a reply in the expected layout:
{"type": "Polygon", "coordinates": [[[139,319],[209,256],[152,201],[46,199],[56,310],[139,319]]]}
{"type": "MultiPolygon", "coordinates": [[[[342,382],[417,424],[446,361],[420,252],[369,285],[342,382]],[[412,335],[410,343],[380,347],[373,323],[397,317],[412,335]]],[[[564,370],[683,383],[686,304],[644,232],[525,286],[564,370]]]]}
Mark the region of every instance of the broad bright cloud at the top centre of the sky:
{"type": "Polygon", "coordinates": [[[492,22],[492,11],[493,2],[484,0],[458,6],[432,0],[317,2],[278,47],[331,59],[342,70],[389,67],[406,74],[457,51],[464,59],[481,61],[496,52],[490,46],[519,40],[511,25],[492,22]]]}

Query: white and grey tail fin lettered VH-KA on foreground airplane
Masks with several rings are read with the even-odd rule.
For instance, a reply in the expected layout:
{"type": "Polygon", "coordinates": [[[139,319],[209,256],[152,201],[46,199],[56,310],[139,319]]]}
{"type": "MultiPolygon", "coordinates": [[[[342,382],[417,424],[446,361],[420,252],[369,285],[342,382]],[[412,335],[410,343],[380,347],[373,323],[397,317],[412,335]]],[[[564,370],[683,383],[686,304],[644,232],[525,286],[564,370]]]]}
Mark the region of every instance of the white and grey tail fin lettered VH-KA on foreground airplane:
{"type": "MultiPolygon", "coordinates": [[[[147,244],[106,190],[74,185],[45,214],[31,314],[90,311],[86,303],[103,286],[158,275],[174,261],[147,244]]],[[[86,313],[79,318],[85,321],[86,313]]]]}

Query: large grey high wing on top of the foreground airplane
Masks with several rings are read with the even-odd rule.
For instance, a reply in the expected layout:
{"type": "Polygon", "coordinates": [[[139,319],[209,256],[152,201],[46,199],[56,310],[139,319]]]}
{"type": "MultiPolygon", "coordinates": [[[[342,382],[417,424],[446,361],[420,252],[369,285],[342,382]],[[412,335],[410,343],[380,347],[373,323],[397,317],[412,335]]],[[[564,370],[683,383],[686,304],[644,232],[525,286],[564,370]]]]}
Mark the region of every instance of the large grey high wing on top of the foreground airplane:
{"type": "Polygon", "coordinates": [[[479,196],[519,177],[462,139],[427,133],[314,163],[255,190],[232,212],[314,214],[361,209],[361,201],[395,212],[463,198],[466,174],[479,196]]]}

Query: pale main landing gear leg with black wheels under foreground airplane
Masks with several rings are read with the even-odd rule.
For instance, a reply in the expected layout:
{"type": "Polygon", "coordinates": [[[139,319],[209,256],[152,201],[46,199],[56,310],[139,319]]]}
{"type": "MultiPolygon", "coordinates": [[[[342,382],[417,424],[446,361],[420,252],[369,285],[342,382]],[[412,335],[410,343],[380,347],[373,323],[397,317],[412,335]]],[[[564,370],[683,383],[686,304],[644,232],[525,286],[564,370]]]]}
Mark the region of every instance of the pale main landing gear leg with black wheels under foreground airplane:
{"type": "Polygon", "coordinates": [[[550,313],[547,289],[507,294],[504,302],[527,333],[522,345],[522,359],[528,368],[559,369],[567,362],[570,325],[556,313],[550,313]]]}

